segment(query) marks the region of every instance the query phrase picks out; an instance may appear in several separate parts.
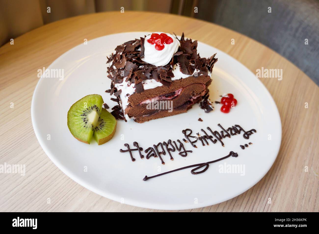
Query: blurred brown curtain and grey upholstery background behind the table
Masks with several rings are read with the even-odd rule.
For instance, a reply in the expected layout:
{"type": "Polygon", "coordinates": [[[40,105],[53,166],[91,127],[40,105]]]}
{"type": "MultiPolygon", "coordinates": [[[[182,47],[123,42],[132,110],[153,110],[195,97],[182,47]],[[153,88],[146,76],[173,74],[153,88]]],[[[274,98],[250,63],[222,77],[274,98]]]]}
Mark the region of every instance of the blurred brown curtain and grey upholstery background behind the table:
{"type": "Polygon", "coordinates": [[[240,32],[319,84],[319,0],[0,0],[0,46],[56,20],[121,7],[198,18],[240,32]]]}

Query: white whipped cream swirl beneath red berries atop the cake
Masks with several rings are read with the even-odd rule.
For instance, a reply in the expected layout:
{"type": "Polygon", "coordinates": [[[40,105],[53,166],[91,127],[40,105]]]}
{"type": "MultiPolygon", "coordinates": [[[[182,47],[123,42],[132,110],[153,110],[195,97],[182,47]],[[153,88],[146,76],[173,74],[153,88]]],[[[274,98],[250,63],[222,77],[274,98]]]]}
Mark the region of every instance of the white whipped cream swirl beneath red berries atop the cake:
{"type": "MultiPolygon", "coordinates": [[[[163,32],[154,33],[161,34],[163,32]]],[[[152,45],[147,42],[147,40],[151,38],[151,35],[146,36],[144,41],[144,57],[142,58],[144,62],[160,67],[172,60],[173,54],[177,52],[178,47],[180,46],[180,42],[173,35],[169,33],[166,34],[173,39],[173,42],[171,44],[164,44],[165,47],[162,50],[156,50],[154,44],[152,45]]]]}

